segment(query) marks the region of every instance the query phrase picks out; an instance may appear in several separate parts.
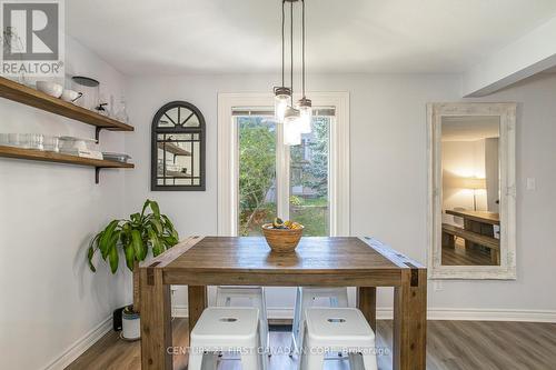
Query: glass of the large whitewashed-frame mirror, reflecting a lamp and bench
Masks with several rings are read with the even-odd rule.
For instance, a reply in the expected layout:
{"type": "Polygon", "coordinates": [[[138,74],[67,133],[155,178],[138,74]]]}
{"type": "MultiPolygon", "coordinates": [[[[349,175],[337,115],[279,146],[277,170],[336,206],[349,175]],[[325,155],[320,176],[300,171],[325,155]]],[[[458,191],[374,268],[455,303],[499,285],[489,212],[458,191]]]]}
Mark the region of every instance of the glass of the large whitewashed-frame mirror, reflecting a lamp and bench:
{"type": "Polygon", "coordinates": [[[500,264],[498,116],[441,117],[441,264],[500,264]]]}

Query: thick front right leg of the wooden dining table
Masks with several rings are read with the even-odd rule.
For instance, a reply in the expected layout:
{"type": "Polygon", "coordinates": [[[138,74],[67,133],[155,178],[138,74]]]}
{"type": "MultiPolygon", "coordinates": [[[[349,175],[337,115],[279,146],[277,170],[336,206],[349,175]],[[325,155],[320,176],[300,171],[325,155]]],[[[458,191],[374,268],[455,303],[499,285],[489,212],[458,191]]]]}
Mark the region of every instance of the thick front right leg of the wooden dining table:
{"type": "Polygon", "coordinates": [[[427,272],[401,271],[394,289],[394,370],[425,370],[427,349],[427,272]]]}

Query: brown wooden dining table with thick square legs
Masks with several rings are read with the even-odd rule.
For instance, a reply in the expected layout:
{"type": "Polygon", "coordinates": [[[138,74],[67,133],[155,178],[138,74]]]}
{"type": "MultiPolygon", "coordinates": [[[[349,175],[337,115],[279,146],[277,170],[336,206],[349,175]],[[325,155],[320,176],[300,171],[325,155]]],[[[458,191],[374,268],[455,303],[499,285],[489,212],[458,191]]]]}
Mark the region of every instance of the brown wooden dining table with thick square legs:
{"type": "Polygon", "coordinates": [[[279,254],[264,238],[190,237],[139,273],[142,370],[172,368],[170,284],[188,287],[189,329],[208,286],[318,286],[357,287],[357,307],[376,330],[376,289],[394,287],[394,369],[426,369],[427,270],[374,238],[301,238],[279,254]]]}

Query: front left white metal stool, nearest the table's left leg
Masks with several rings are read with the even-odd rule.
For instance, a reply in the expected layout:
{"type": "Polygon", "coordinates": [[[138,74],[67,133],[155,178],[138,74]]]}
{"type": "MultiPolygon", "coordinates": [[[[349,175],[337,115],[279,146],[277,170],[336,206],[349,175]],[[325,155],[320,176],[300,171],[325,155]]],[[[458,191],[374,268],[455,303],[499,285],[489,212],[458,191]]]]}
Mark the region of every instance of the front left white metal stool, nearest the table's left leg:
{"type": "Polygon", "coordinates": [[[188,370],[216,370],[215,352],[222,351],[239,352],[244,370],[266,369],[258,326],[259,310],[252,307],[205,309],[191,331],[188,370]]]}

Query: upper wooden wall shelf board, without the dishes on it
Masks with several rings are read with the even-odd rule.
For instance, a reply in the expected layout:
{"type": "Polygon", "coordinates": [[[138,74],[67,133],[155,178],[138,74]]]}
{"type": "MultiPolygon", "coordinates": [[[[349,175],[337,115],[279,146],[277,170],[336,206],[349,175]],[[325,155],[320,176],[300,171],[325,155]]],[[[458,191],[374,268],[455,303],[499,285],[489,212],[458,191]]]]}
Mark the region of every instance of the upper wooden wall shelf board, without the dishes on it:
{"type": "Polygon", "coordinates": [[[97,139],[98,132],[101,129],[110,131],[133,131],[132,126],[98,114],[61,99],[50,97],[41,91],[2,77],[0,77],[0,97],[95,126],[97,127],[97,139]]]}

